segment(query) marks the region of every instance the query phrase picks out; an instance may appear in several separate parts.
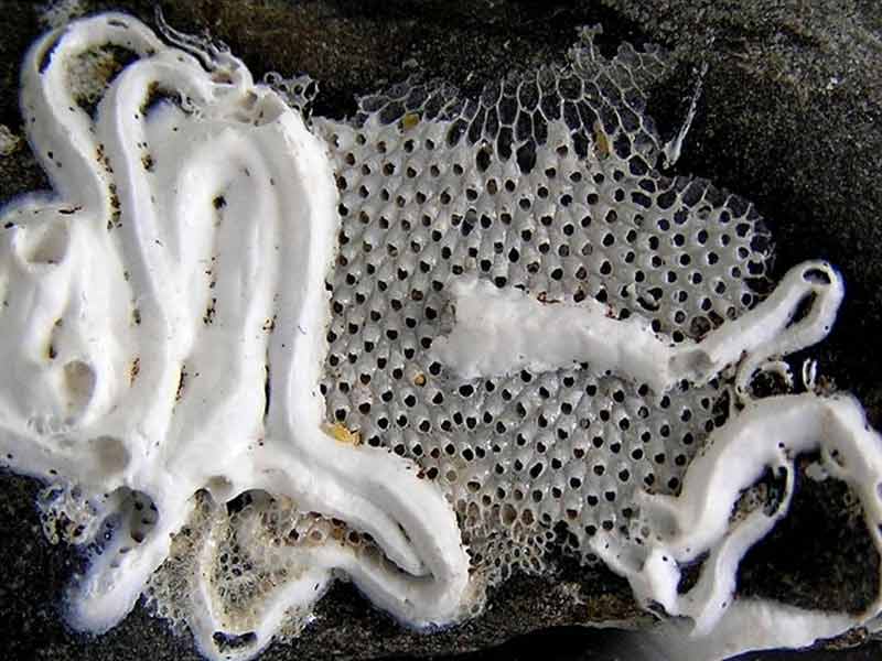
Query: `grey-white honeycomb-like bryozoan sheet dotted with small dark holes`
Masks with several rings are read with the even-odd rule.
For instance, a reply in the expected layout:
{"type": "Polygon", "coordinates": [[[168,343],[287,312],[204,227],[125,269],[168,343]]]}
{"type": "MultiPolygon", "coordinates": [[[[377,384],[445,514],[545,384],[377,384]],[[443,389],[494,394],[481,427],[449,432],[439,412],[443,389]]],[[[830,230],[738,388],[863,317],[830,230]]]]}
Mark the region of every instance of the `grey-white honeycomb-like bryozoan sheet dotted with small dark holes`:
{"type": "Polygon", "coordinates": [[[755,302],[768,241],[753,208],[650,165],[658,139],[637,82],[659,62],[583,52],[473,100],[405,84],[363,100],[353,124],[316,124],[334,145],[342,217],[327,416],[419,463],[492,581],[542,571],[560,523],[589,563],[600,531],[639,543],[635,490],[677,492],[721,422],[716,382],[659,395],[591,369],[462,380],[431,353],[451,327],[449,285],[466,274],[593,296],[675,342],[755,302]]]}

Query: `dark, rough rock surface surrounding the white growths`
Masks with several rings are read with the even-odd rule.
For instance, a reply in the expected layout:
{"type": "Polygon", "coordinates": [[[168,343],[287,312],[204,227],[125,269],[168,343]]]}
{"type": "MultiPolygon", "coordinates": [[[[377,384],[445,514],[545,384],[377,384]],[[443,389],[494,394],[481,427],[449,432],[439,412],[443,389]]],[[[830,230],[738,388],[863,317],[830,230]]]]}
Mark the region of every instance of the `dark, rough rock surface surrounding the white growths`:
{"type": "MultiPolygon", "coordinates": [[[[42,30],[35,4],[0,1],[0,123],[17,134],[18,68],[24,48],[42,30]]],[[[148,1],[80,4],[152,19],[148,1]]],[[[579,9],[564,2],[498,0],[316,0],[293,8],[281,0],[161,4],[172,25],[211,30],[257,74],[311,74],[323,90],[316,113],[335,117],[354,110],[354,94],[417,71],[478,90],[514,65],[559,61],[577,25],[602,22],[603,44],[654,41],[673,50],[677,75],[656,90],[649,106],[663,131],[673,133],[695,72],[707,63],[699,112],[678,170],[708,177],[757,205],[776,238],[779,273],[815,257],[842,270],[848,295],[839,323],[811,355],[882,427],[882,355],[871,344],[882,324],[882,11],[876,0],[602,0],[579,9]]],[[[44,186],[26,148],[0,159],[0,201],[44,186]]],[[[875,589],[878,557],[862,522],[843,503],[845,489],[809,486],[806,481],[787,523],[745,560],[742,589],[816,608],[854,609],[875,589]]],[[[58,597],[74,561],[68,550],[42,537],[32,505],[36,489],[31,480],[0,477],[0,618],[7,622],[7,657],[196,658],[189,638],[173,637],[141,609],[96,640],[64,629],[58,597]]],[[[351,587],[338,586],[321,603],[319,619],[302,640],[293,648],[275,646],[265,658],[447,654],[550,626],[635,618],[645,621],[623,581],[574,566],[564,566],[550,581],[516,577],[492,596],[485,616],[431,637],[402,629],[351,587]]],[[[553,646],[548,636],[518,640],[494,654],[530,658],[528,650],[551,647],[560,658],[653,658],[652,650],[621,635],[568,629],[566,642],[558,632],[553,646]]],[[[870,642],[858,651],[762,658],[879,655],[882,647],[870,642]]]]}

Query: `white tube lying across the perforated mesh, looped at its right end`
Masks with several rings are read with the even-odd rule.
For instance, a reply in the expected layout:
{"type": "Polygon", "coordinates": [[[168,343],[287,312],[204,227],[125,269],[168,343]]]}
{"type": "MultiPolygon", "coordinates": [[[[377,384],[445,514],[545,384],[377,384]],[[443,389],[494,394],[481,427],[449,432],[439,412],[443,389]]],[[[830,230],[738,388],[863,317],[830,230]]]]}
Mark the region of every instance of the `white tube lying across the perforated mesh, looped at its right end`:
{"type": "Polygon", "coordinates": [[[598,301],[548,301],[470,279],[455,283],[451,302],[455,323],[434,343],[433,351],[464,378],[587,362],[595,372],[646,383],[656,392],[684,379],[706,382],[743,359],[735,386],[744,394],[764,360],[826,337],[842,295],[839,273],[825,262],[806,262],[792,269],[754,310],[701,342],[675,344],[642,317],[616,319],[598,301]]]}

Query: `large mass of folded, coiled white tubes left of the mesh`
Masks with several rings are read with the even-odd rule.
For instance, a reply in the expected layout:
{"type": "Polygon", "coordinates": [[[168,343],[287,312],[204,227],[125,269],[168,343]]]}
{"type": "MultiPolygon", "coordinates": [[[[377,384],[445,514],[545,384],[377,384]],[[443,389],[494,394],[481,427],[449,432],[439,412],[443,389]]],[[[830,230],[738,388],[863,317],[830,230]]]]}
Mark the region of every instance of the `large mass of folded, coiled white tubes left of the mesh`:
{"type": "MultiPolygon", "coordinates": [[[[50,32],[24,63],[29,138],[55,194],[2,217],[0,447],[17,470],[99,499],[141,492],[158,510],[152,528],[103,543],[71,620],[101,631],[131,609],[200,489],[289,497],[369,533],[397,565],[304,551],[236,654],[266,646],[336,570],[412,625],[455,620],[467,559],[443,495],[411,463],[322,431],[340,223],[326,148],[238,59],[190,50],[104,14],[50,32]],[[137,59],[92,117],[67,71],[109,45],[137,59]]],[[[190,622],[212,657],[218,622],[208,600],[190,622]]]]}

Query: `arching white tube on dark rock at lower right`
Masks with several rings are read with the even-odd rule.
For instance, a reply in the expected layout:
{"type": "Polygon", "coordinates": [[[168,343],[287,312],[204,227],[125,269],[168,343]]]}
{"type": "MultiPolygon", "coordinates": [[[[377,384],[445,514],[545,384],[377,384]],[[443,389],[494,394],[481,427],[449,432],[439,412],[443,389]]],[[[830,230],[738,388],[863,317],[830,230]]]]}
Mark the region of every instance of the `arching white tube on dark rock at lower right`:
{"type": "MultiPolygon", "coordinates": [[[[711,631],[732,604],[739,562],[787,513],[794,460],[817,451],[828,474],[860,498],[870,537],[882,553],[882,436],[867,424],[860,404],[848,395],[772,397],[750,403],[711,435],[690,464],[679,496],[641,495],[642,517],[654,521],[659,533],[630,576],[638,598],[691,617],[697,635],[711,631]],[[742,492],[767,469],[783,478],[781,500],[733,517],[742,492]],[[698,583],[678,594],[679,565],[704,553],[698,583]]],[[[880,609],[882,593],[854,624],[880,609]]]]}

